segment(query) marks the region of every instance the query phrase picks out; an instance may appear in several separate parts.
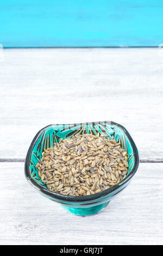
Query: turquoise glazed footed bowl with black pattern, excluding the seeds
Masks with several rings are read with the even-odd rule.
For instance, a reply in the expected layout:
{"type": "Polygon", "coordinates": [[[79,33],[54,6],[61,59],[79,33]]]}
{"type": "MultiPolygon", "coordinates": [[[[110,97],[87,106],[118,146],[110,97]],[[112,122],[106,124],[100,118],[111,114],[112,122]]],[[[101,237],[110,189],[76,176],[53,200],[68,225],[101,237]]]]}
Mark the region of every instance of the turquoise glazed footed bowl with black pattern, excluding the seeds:
{"type": "Polygon", "coordinates": [[[112,121],[100,121],[80,124],[48,125],[41,129],[34,137],[25,161],[25,174],[29,183],[43,196],[60,203],[63,208],[76,215],[93,215],[103,210],[118,193],[131,181],[139,166],[139,154],[136,145],[128,131],[120,124],[112,121]],[[117,185],[90,196],[64,196],[47,189],[42,183],[36,163],[41,159],[43,149],[53,147],[60,139],[70,138],[76,133],[97,132],[105,137],[114,138],[121,143],[121,147],[128,151],[128,173],[117,185]]]}

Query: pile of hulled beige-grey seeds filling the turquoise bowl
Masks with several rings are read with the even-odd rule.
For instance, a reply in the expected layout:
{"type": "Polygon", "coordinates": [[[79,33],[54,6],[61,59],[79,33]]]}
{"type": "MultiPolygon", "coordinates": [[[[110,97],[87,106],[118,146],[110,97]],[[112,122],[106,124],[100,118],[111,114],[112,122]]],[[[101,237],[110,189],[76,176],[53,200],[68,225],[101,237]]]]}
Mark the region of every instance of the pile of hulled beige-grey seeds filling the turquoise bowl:
{"type": "Polygon", "coordinates": [[[84,134],[44,149],[36,164],[49,190],[70,196],[95,194],[116,185],[128,172],[127,152],[115,139],[84,134]]]}

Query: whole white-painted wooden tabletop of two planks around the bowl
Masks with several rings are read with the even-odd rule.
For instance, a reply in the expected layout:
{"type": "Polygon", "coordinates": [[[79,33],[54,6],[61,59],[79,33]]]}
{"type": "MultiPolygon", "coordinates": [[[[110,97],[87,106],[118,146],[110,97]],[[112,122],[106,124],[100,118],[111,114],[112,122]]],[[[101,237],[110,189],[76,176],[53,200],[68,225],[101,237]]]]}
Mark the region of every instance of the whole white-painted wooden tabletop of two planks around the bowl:
{"type": "Polygon", "coordinates": [[[0,244],[162,244],[162,50],[5,49],[0,63],[0,244]],[[28,184],[24,158],[41,127],[100,120],[127,128],[140,167],[105,210],[74,216],[28,184]]]}

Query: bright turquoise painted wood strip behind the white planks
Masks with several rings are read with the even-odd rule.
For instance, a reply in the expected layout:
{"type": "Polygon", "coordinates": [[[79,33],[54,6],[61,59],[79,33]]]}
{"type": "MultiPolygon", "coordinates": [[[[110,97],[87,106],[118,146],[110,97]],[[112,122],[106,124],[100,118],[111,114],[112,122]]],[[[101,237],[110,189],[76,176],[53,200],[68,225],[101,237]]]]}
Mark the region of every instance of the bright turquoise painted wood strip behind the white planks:
{"type": "Polygon", "coordinates": [[[162,0],[1,0],[3,47],[158,46],[162,0]]]}

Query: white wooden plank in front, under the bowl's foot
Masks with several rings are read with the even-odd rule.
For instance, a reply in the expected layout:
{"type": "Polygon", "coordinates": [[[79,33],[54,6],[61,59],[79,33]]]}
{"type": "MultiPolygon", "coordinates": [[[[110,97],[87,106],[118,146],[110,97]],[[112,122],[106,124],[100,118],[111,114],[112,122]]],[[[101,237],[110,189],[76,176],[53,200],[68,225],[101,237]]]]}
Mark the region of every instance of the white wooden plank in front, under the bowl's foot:
{"type": "Polygon", "coordinates": [[[141,163],[129,186],[94,216],[43,197],[23,163],[0,163],[1,245],[162,245],[163,163],[141,163]]]}

